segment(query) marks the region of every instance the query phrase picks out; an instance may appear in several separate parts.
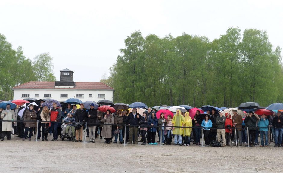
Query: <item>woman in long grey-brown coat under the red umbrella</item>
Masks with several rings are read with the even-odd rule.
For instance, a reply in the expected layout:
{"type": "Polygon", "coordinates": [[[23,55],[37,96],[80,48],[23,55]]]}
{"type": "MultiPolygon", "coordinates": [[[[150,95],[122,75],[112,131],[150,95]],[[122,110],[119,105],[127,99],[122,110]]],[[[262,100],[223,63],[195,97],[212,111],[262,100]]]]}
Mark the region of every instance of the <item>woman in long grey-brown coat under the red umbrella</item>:
{"type": "Polygon", "coordinates": [[[110,144],[110,138],[112,137],[112,125],[106,125],[114,123],[114,118],[110,114],[110,110],[106,111],[106,114],[104,115],[104,118],[101,119],[101,122],[104,123],[101,131],[101,136],[105,138],[105,144],[110,144]]]}

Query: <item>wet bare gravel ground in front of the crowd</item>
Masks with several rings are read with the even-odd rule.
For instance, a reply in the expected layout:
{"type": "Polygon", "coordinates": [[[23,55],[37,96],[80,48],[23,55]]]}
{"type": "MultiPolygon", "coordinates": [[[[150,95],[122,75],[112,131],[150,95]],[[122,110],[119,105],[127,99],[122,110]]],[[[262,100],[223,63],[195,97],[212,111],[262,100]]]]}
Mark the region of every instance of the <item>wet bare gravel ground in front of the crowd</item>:
{"type": "MultiPolygon", "coordinates": [[[[282,172],[283,147],[0,141],[0,172],[282,172]],[[274,165],[277,165],[276,167],[274,165]]],[[[88,138],[87,138],[88,139],[88,138]]]]}

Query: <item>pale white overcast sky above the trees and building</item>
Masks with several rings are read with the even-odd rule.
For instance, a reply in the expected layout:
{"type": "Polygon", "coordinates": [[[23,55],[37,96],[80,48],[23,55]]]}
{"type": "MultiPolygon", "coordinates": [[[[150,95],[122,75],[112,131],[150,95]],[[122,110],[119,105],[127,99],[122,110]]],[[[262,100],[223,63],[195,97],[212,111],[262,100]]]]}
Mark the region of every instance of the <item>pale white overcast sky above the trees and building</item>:
{"type": "Polygon", "coordinates": [[[237,1],[0,1],[0,33],[33,60],[53,57],[54,74],[69,68],[74,81],[98,82],[109,73],[124,39],[136,30],[143,36],[174,37],[182,32],[210,41],[229,27],[266,30],[274,46],[283,47],[283,2],[237,1]]]}

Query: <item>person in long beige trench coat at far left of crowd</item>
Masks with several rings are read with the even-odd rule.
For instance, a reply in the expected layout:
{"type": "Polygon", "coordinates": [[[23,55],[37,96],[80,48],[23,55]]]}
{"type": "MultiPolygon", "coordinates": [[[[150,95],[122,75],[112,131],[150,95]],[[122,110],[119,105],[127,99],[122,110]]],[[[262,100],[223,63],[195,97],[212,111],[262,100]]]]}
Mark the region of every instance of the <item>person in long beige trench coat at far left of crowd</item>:
{"type": "MultiPolygon", "coordinates": [[[[15,119],[15,113],[10,109],[10,104],[6,105],[6,109],[4,109],[1,113],[2,120],[10,120],[15,119]]],[[[11,140],[11,131],[12,131],[13,122],[4,121],[2,122],[2,136],[1,141],[4,140],[4,137],[7,136],[7,140],[11,140]]]]}

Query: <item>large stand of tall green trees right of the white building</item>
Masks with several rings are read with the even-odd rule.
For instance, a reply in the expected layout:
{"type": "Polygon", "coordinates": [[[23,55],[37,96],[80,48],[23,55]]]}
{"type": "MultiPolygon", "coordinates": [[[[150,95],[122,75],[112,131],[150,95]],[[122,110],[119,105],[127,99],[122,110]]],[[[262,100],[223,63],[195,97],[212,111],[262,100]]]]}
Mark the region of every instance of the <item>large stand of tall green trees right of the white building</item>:
{"type": "Polygon", "coordinates": [[[237,107],[283,100],[281,48],[266,31],[229,28],[213,41],[186,33],[144,38],[135,31],[120,51],[110,76],[101,79],[115,89],[114,102],[237,107]]]}

